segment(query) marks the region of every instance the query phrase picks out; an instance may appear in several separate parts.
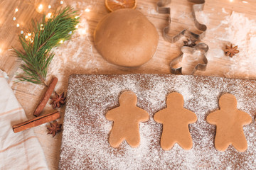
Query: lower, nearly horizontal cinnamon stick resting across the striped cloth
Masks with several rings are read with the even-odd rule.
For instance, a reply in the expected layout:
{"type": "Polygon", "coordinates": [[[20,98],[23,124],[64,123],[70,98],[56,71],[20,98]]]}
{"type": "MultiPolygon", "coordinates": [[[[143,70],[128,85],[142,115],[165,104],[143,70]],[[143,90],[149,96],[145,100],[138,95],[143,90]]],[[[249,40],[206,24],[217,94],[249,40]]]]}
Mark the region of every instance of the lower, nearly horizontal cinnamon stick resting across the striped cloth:
{"type": "Polygon", "coordinates": [[[37,118],[33,118],[31,120],[27,120],[23,123],[18,123],[16,125],[13,125],[14,132],[21,132],[23,130],[27,130],[29,128],[36,127],[38,125],[42,125],[43,123],[48,123],[50,121],[56,120],[60,118],[60,113],[58,111],[55,111],[53,113],[49,113],[47,115],[41,115],[37,118]]]}

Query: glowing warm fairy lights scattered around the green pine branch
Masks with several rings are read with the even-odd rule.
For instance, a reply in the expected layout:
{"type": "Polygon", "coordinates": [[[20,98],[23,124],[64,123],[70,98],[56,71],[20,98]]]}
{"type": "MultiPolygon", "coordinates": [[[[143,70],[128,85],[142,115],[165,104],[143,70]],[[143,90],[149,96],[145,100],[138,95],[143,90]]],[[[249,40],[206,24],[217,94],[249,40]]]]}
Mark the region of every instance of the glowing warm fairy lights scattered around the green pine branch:
{"type": "MultiPolygon", "coordinates": [[[[60,5],[63,5],[63,4],[64,4],[64,1],[60,1],[60,5]]],[[[43,13],[43,11],[44,11],[45,8],[51,9],[52,6],[51,6],[50,4],[38,4],[38,5],[36,6],[36,11],[37,11],[38,13],[43,13]]],[[[91,5],[90,5],[90,6],[87,6],[87,8],[85,8],[84,10],[82,10],[82,12],[89,13],[89,12],[91,11],[91,8],[92,8],[91,5]]],[[[14,9],[14,17],[12,18],[13,21],[17,21],[16,13],[18,13],[18,11],[19,11],[19,10],[18,10],[18,7],[16,7],[16,8],[14,9]]],[[[80,15],[82,15],[82,13],[80,13],[80,15]]],[[[51,13],[51,12],[47,13],[47,14],[46,14],[46,19],[50,18],[51,16],[52,16],[52,13],[51,13]]],[[[80,17],[80,16],[75,16],[75,18],[79,18],[79,17],[80,17]]],[[[21,24],[20,24],[20,23],[16,22],[15,24],[16,24],[16,27],[17,27],[17,28],[21,28],[21,24]]],[[[80,35],[87,35],[88,25],[87,25],[87,24],[84,24],[84,25],[85,25],[85,26],[83,26],[83,28],[80,27],[79,24],[78,24],[77,26],[75,26],[75,28],[78,29],[78,34],[80,34],[80,35]]],[[[43,24],[41,24],[41,30],[43,30],[43,24]]],[[[21,33],[21,34],[24,34],[25,31],[23,31],[22,28],[21,28],[20,33],[21,33]]],[[[33,42],[33,40],[31,40],[31,35],[32,35],[31,33],[26,33],[25,38],[28,39],[28,40],[30,40],[31,42],[33,42]]],[[[63,43],[63,40],[60,40],[59,43],[63,43]]],[[[12,49],[9,49],[9,50],[12,50],[12,49]]],[[[4,52],[4,50],[0,47],[0,54],[1,54],[2,52],[4,52]]]]}

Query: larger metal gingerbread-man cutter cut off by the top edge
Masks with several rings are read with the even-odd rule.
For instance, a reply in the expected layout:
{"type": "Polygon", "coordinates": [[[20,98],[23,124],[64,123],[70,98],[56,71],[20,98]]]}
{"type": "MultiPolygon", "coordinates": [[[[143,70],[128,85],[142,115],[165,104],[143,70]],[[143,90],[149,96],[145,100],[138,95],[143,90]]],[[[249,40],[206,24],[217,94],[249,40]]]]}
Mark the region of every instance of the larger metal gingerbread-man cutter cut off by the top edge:
{"type": "Polygon", "coordinates": [[[171,27],[171,8],[164,7],[164,6],[170,4],[171,0],[160,0],[157,3],[156,11],[158,13],[169,14],[169,20],[168,20],[169,26],[166,26],[166,28],[164,28],[164,39],[171,43],[178,41],[183,35],[185,35],[186,32],[190,33],[191,36],[193,36],[193,38],[195,38],[196,40],[202,39],[206,35],[207,27],[206,27],[206,25],[201,24],[197,21],[196,13],[195,13],[196,11],[203,11],[203,6],[205,4],[205,0],[188,0],[188,1],[195,3],[192,6],[192,16],[193,16],[193,20],[196,25],[196,28],[198,28],[198,30],[203,31],[201,34],[192,33],[191,31],[184,29],[175,36],[169,35],[168,33],[169,33],[169,29],[171,27]]]}

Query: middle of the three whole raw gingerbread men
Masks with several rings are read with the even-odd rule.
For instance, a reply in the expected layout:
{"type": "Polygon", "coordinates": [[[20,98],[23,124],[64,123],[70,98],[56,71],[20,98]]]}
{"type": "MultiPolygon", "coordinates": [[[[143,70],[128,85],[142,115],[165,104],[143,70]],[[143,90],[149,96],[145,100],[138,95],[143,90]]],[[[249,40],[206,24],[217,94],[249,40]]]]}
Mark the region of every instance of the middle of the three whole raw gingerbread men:
{"type": "Polygon", "coordinates": [[[196,114],[183,108],[183,96],[176,92],[167,96],[166,106],[154,115],[157,123],[163,124],[161,148],[171,149],[178,143],[183,149],[191,149],[193,141],[188,130],[188,124],[195,123],[196,114]]]}

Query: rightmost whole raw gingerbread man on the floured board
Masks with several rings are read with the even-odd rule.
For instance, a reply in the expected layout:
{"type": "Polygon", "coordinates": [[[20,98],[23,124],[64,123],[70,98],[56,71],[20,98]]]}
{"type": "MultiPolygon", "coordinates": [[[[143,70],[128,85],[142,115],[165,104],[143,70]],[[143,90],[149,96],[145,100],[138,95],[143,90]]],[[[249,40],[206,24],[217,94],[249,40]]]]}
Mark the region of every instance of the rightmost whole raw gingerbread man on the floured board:
{"type": "Polygon", "coordinates": [[[243,125],[252,122],[250,115],[237,108],[237,100],[232,94],[224,94],[219,100],[220,110],[210,113],[206,121],[216,125],[215,148],[225,151],[229,145],[244,152],[247,141],[242,130],[243,125]]]}

